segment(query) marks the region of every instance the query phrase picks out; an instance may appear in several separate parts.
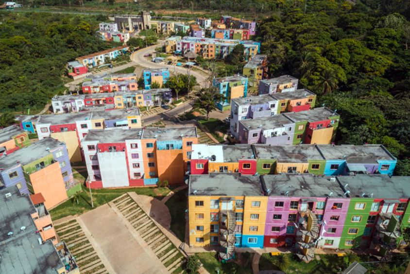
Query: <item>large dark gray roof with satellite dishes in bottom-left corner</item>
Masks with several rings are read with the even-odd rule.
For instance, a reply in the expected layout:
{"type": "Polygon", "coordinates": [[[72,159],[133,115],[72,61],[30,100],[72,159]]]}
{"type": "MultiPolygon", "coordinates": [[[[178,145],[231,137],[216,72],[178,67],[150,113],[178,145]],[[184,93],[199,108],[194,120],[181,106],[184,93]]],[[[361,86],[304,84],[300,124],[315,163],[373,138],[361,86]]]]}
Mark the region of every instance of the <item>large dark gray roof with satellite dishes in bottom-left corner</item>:
{"type": "Polygon", "coordinates": [[[64,267],[51,241],[38,244],[33,219],[35,209],[28,195],[20,195],[17,187],[0,190],[0,273],[55,274],[64,267]],[[6,193],[11,197],[5,198],[6,193]],[[20,230],[25,226],[25,230],[20,230]],[[7,236],[13,232],[13,236],[7,236]]]}

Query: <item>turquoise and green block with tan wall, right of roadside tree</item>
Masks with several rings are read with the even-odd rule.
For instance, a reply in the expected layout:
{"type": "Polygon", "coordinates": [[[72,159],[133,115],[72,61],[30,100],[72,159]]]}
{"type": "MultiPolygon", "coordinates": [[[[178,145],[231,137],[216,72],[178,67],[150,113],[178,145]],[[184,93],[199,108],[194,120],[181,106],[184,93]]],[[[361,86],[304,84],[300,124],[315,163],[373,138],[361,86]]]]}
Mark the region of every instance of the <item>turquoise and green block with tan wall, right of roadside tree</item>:
{"type": "Polygon", "coordinates": [[[231,100],[248,95],[248,78],[238,74],[222,78],[214,78],[213,86],[225,99],[217,104],[219,110],[230,110],[231,100]]]}

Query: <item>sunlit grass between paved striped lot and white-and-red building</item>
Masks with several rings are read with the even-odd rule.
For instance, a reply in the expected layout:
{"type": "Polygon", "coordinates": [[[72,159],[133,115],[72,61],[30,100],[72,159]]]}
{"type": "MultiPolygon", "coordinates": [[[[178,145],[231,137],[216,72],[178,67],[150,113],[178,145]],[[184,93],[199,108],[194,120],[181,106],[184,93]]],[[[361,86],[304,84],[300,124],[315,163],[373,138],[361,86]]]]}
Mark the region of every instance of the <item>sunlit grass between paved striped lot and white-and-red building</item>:
{"type": "MultiPolygon", "coordinates": [[[[79,174],[79,173],[77,173],[79,174]]],[[[79,176],[75,175],[74,176],[79,176]]],[[[91,201],[88,188],[84,185],[82,186],[83,190],[80,193],[80,198],[77,201],[69,199],[68,201],[63,202],[59,206],[50,210],[51,218],[53,220],[60,219],[69,215],[83,214],[86,211],[91,210],[91,201]]],[[[94,208],[109,201],[114,200],[117,197],[120,197],[126,192],[136,192],[139,195],[147,195],[155,197],[161,200],[165,197],[170,189],[168,187],[134,187],[134,188],[117,188],[117,189],[91,189],[92,198],[94,202],[94,208]]]]}

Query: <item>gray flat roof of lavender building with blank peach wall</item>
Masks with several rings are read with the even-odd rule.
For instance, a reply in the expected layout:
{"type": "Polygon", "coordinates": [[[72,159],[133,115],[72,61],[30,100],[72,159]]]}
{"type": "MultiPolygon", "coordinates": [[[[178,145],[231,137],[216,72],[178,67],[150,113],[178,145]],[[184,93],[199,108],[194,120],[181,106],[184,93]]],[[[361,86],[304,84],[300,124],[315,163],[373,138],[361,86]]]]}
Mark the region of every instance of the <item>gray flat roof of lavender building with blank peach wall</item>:
{"type": "Polygon", "coordinates": [[[49,155],[51,151],[63,145],[65,144],[51,137],[42,139],[0,158],[0,167],[3,169],[11,168],[17,166],[17,162],[20,162],[21,165],[30,164],[49,155]],[[50,151],[47,151],[47,148],[50,148],[50,151]]]}

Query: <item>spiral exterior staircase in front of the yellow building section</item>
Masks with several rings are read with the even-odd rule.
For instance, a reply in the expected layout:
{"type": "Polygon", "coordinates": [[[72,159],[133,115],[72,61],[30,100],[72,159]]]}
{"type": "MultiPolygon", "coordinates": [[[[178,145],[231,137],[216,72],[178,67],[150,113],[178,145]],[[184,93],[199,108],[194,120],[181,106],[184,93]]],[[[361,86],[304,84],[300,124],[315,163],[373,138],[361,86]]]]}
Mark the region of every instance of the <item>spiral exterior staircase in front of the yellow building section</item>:
{"type": "Polygon", "coordinates": [[[221,250],[219,252],[219,259],[221,261],[228,261],[235,256],[235,226],[236,217],[233,210],[221,210],[220,212],[220,237],[219,243],[221,250]]]}

